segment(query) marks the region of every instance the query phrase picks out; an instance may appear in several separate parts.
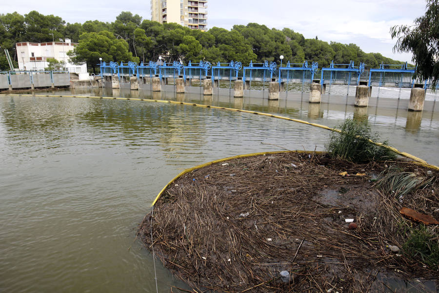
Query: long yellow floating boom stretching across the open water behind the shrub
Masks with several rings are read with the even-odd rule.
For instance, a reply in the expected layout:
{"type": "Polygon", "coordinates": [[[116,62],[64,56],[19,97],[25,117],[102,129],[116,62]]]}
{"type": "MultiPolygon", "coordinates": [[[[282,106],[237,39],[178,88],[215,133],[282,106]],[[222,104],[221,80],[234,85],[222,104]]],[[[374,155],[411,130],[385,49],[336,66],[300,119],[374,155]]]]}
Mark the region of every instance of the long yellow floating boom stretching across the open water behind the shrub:
{"type": "MultiPolygon", "coordinates": [[[[76,95],[32,95],[32,94],[0,94],[0,96],[17,96],[17,97],[53,97],[53,98],[89,98],[89,99],[108,99],[108,100],[130,100],[130,101],[145,101],[145,102],[155,102],[155,103],[166,103],[166,104],[177,104],[177,105],[188,105],[188,106],[197,106],[197,107],[202,107],[202,108],[211,108],[211,109],[220,109],[220,110],[228,110],[228,111],[236,111],[236,112],[242,112],[242,113],[251,113],[251,114],[257,114],[257,115],[261,115],[261,116],[268,116],[268,117],[273,117],[273,118],[278,118],[278,119],[283,119],[283,120],[288,120],[288,121],[294,121],[294,122],[298,122],[298,123],[302,123],[302,124],[307,124],[307,125],[311,125],[311,126],[316,126],[319,128],[323,128],[323,129],[327,129],[327,130],[331,130],[331,131],[336,131],[336,132],[341,132],[340,129],[337,128],[331,128],[325,125],[321,125],[318,123],[310,123],[308,121],[305,120],[300,120],[300,119],[295,119],[295,118],[289,118],[289,117],[285,117],[285,116],[280,116],[280,115],[273,115],[273,114],[269,114],[269,113],[263,113],[263,112],[256,112],[256,111],[251,111],[251,110],[242,110],[242,109],[235,109],[235,108],[228,108],[228,107],[220,107],[220,106],[211,106],[211,105],[201,105],[201,104],[195,104],[195,103],[187,103],[187,102],[177,102],[177,101],[168,101],[168,100],[153,100],[153,99],[140,99],[140,98],[120,98],[120,97],[99,97],[99,96],[76,96],[76,95]]],[[[382,143],[377,143],[374,142],[372,140],[370,140],[370,142],[378,145],[378,146],[383,146],[386,147],[392,151],[394,151],[395,153],[410,158],[412,160],[414,160],[416,163],[418,163],[419,165],[425,166],[425,167],[430,167],[436,170],[439,170],[439,167],[434,166],[434,165],[430,165],[427,162],[425,162],[424,160],[411,155],[409,153],[406,152],[402,152],[399,151],[398,149],[396,149],[393,146],[386,146],[383,145],[382,143]]]]}

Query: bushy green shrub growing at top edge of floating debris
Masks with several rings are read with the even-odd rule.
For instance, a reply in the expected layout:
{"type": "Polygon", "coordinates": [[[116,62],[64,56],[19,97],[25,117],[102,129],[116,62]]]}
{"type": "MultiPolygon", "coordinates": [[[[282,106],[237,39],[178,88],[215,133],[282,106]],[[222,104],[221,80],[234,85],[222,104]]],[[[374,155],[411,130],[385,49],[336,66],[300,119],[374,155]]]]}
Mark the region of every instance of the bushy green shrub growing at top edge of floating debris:
{"type": "Polygon", "coordinates": [[[371,133],[367,121],[358,122],[348,118],[337,128],[341,133],[333,131],[326,147],[332,157],[359,163],[396,158],[396,154],[390,149],[377,146],[370,141],[378,141],[379,136],[371,133]]]}

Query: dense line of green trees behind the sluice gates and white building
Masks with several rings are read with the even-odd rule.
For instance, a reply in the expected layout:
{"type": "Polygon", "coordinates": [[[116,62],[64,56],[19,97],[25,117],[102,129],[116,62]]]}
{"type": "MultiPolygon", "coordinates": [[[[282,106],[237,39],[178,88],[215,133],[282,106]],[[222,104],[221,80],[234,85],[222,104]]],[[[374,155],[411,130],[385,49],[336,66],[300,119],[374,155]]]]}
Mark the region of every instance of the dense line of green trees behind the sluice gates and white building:
{"type": "MultiPolygon", "coordinates": [[[[305,39],[290,28],[270,29],[258,23],[235,25],[231,30],[213,27],[202,32],[177,23],[142,20],[139,15],[126,11],[111,23],[66,23],[60,17],[45,16],[37,11],[24,16],[17,12],[0,14],[0,46],[8,49],[14,60],[17,59],[16,42],[50,42],[65,38],[80,43],[75,52],[70,52],[71,59],[77,63],[86,61],[90,68],[99,63],[100,57],[107,62],[147,62],[155,61],[159,56],[164,56],[168,62],[236,60],[248,64],[264,60],[279,63],[279,56],[283,55],[285,63],[308,60],[318,62],[320,67],[328,66],[331,60],[335,63],[364,62],[370,68],[381,62],[401,63],[379,53],[365,53],[356,44],[305,39]]],[[[0,52],[0,69],[7,67],[4,54],[0,52]]]]}

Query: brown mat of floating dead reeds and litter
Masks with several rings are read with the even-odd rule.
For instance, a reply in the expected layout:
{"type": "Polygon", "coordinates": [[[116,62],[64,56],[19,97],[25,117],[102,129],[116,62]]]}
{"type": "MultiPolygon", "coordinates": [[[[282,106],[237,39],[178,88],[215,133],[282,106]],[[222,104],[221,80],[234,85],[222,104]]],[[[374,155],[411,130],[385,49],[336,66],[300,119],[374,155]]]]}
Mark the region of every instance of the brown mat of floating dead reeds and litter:
{"type": "Polygon", "coordinates": [[[267,153],[180,176],[139,233],[191,292],[437,292],[438,225],[413,217],[438,194],[407,161],[267,153]]]}

